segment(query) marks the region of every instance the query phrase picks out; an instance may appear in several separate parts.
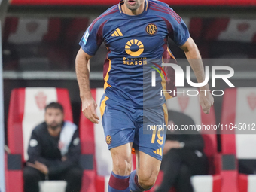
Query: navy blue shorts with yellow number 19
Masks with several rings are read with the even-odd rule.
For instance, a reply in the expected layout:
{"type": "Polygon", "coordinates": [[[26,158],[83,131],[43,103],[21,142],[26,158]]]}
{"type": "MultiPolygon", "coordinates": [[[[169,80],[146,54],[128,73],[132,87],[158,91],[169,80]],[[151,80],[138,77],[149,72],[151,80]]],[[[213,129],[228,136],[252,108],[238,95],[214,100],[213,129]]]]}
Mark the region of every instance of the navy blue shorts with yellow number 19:
{"type": "Polygon", "coordinates": [[[133,142],[134,149],[162,160],[166,130],[157,129],[157,125],[168,122],[166,104],[130,108],[103,95],[100,111],[108,149],[133,142]]]}

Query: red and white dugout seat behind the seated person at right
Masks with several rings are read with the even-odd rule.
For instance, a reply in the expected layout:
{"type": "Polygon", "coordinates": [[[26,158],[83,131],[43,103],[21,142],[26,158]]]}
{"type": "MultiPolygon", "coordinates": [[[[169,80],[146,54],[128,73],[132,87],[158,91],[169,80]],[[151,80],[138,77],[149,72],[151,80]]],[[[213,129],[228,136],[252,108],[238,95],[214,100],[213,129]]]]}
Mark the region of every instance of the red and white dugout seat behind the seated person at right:
{"type": "MultiPolygon", "coordinates": [[[[183,112],[190,116],[196,124],[215,125],[215,111],[211,108],[210,114],[205,114],[200,107],[198,96],[187,96],[187,90],[193,88],[178,88],[177,97],[168,99],[166,102],[168,110],[183,112]]],[[[189,94],[195,94],[190,91],[189,94]]],[[[202,130],[201,134],[205,142],[204,152],[209,160],[209,175],[195,175],[191,182],[195,192],[220,192],[221,191],[221,156],[217,151],[217,130],[202,130]]],[[[163,172],[160,172],[155,187],[160,184],[163,172]]],[[[172,191],[174,191],[172,189],[172,191]]]]}

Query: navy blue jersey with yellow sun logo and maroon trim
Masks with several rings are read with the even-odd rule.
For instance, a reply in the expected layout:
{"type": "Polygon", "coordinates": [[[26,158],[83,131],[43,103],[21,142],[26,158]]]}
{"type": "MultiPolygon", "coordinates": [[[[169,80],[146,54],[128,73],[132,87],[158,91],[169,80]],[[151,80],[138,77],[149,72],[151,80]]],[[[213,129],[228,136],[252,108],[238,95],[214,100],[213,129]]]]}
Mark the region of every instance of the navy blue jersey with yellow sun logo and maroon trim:
{"type": "Polygon", "coordinates": [[[187,26],[163,2],[145,0],[145,10],[135,16],[124,14],[122,4],[93,20],[79,44],[93,56],[104,41],[108,49],[103,69],[105,96],[133,108],[163,105],[168,98],[160,90],[175,90],[175,73],[170,69],[167,78],[158,75],[157,87],[151,89],[151,71],[161,72],[163,61],[175,59],[167,40],[183,45],[190,37],[187,26]]]}

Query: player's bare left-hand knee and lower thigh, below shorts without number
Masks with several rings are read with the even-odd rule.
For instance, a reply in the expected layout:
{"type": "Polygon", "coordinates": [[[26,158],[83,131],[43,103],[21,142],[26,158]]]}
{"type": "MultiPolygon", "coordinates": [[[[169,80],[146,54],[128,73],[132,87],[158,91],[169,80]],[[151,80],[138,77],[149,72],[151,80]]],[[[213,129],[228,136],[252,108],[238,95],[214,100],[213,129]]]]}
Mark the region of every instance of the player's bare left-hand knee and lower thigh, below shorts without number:
{"type": "Polygon", "coordinates": [[[133,143],[130,142],[116,148],[111,148],[114,174],[121,176],[130,175],[132,169],[132,145],[133,143]]]}

